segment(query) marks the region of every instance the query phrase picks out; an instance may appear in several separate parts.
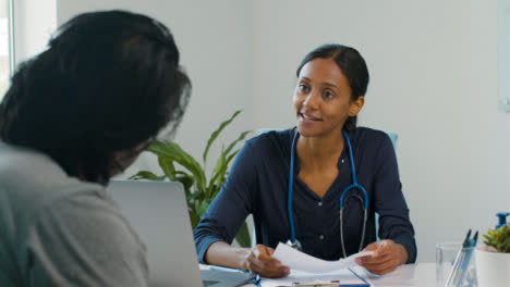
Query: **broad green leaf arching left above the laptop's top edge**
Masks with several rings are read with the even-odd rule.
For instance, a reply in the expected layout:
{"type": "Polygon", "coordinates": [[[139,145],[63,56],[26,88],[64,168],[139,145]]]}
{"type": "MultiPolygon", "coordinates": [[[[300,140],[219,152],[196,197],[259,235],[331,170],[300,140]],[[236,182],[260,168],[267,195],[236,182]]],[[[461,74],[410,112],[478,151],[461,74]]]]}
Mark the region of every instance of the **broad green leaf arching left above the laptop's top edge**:
{"type": "Polygon", "coordinates": [[[206,177],[202,166],[178,144],[155,140],[153,141],[153,144],[150,144],[150,146],[147,147],[147,150],[155,153],[158,157],[169,158],[172,161],[175,161],[177,163],[184,166],[195,177],[195,185],[197,190],[202,192],[206,191],[206,177]]]}

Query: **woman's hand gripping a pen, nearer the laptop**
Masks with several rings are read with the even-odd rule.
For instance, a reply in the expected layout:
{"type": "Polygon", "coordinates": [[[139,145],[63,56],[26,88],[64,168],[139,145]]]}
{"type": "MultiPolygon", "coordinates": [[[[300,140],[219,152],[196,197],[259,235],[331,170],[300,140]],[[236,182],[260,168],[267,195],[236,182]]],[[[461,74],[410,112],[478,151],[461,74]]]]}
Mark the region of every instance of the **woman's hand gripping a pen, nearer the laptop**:
{"type": "Polygon", "coordinates": [[[255,246],[245,258],[244,267],[263,277],[279,278],[289,275],[290,269],[272,258],[274,252],[272,248],[263,245],[255,246]]]}

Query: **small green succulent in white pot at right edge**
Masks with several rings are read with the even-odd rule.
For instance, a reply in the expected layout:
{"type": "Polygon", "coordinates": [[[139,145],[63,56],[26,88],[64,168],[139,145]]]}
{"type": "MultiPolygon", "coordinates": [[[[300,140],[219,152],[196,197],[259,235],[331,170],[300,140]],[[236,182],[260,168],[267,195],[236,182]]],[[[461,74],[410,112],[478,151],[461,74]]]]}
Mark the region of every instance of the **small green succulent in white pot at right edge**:
{"type": "Polygon", "coordinates": [[[478,286],[510,284],[510,228],[489,229],[484,244],[475,250],[478,286]]]}

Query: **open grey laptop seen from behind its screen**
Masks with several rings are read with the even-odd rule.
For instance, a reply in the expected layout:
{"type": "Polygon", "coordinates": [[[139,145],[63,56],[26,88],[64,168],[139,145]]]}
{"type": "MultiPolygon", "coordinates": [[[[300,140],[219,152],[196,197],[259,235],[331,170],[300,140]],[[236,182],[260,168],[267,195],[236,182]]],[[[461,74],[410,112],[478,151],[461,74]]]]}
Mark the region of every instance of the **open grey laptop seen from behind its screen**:
{"type": "Polygon", "coordinates": [[[150,287],[233,287],[253,279],[242,272],[199,271],[180,183],[111,180],[107,192],[147,247],[150,287]]]}

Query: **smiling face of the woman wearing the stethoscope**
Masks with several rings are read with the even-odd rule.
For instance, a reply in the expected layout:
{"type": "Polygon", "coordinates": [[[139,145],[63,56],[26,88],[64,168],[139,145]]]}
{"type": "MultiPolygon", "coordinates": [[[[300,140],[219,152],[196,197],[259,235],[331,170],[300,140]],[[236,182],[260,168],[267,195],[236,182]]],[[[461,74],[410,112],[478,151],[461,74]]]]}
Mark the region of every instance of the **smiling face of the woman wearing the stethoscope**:
{"type": "Polygon", "coordinates": [[[306,63],[293,97],[300,133],[304,137],[340,135],[347,118],[363,107],[363,97],[351,101],[351,93],[347,77],[333,60],[317,58],[306,63]]]}

